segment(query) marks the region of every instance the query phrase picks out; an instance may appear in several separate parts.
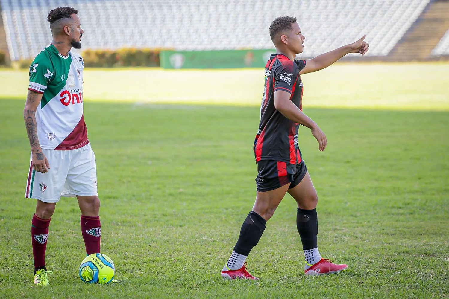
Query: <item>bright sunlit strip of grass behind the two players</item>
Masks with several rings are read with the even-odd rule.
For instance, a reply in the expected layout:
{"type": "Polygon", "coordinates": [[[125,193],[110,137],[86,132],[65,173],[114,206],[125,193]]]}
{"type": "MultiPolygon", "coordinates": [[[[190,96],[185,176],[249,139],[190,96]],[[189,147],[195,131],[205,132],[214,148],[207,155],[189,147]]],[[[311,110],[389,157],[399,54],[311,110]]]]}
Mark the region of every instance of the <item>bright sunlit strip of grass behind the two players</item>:
{"type": "MultiPolygon", "coordinates": [[[[448,69],[449,62],[332,65],[302,76],[304,106],[449,110],[448,69]]],[[[84,98],[260,106],[260,74],[260,69],[86,68],[84,98]]],[[[0,82],[0,96],[25,98],[26,70],[0,69],[0,82]]]]}

